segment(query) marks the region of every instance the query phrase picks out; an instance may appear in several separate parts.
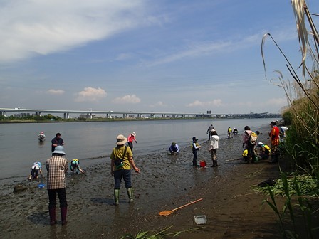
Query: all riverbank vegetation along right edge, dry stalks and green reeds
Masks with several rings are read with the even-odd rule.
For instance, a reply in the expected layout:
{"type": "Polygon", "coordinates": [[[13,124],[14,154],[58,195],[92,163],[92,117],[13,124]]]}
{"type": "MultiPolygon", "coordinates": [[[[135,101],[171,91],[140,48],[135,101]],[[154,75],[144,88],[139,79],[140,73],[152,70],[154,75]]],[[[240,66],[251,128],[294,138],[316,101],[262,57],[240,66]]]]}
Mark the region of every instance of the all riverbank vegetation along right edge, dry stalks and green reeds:
{"type": "MultiPolygon", "coordinates": [[[[319,221],[319,36],[305,1],[291,1],[297,23],[302,60],[299,77],[286,55],[270,36],[286,60],[291,80],[283,80],[277,70],[289,107],[283,110],[283,122],[288,126],[283,143],[290,171],[281,173],[276,186],[268,186],[271,196],[265,203],[277,214],[283,238],[315,238],[319,221]],[[306,28],[309,26],[310,29],[306,28]],[[283,207],[276,195],[282,195],[283,207]],[[290,218],[290,225],[285,219],[290,218]]],[[[261,48],[263,55],[263,46],[261,48]]]]}

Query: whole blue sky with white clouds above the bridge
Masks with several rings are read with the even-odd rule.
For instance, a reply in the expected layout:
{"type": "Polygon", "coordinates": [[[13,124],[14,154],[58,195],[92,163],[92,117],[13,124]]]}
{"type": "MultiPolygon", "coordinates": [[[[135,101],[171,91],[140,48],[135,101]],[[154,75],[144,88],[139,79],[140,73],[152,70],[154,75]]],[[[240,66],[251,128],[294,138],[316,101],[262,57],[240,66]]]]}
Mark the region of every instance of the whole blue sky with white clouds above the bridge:
{"type": "Polygon", "coordinates": [[[290,0],[0,0],[0,107],[280,113],[265,33],[300,73],[290,0]]]}

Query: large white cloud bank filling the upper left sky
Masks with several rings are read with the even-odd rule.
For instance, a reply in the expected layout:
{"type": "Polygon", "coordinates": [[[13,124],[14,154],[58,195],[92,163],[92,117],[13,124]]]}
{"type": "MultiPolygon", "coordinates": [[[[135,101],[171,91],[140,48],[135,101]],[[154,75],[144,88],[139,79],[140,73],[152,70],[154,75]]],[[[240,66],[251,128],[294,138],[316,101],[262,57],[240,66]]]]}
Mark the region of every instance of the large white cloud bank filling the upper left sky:
{"type": "Polygon", "coordinates": [[[0,4],[0,63],[47,55],[135,28],[144,0],[4,1],[0,4]]]}

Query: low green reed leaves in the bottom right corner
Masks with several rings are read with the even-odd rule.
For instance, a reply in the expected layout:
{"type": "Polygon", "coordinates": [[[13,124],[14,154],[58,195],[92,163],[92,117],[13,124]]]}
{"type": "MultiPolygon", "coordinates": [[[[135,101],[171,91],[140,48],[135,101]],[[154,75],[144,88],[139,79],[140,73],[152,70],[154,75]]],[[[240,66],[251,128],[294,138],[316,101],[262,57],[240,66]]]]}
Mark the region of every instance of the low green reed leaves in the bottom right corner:
{"type": "Polygon", "coordinates": [[[313,216],[316,211],[310,199],[319,199],[318,181],[319,179],[313,179],[309,175],[305,175],[305,181],[300,180],[300,175],[288,178],[287,174],[281,172],[281,179],[276,182],[276,185],[267,187],[266,191],[271,197],[271,201],[265,199],[263,203],[267,203],[278,216],[283,238],[315,238],[315,231],[319,228],[313,225],[313,216]],[[309,186],[308,182],[311,181],[313,182],[309,186]],[[282,208],[276,202],[276,195],[279,194],[285,198],[282,208]],[[291,220],[292,230],[286,229],[285,218],[287,213],[291,220]],[[300,218],[302,222],[300,222],[300,218]],[[298,223],[296,223],[297,220],[298,223]],[[303,232],[298,232],[300,228],[305,228],[306,235],[303,232]]]}

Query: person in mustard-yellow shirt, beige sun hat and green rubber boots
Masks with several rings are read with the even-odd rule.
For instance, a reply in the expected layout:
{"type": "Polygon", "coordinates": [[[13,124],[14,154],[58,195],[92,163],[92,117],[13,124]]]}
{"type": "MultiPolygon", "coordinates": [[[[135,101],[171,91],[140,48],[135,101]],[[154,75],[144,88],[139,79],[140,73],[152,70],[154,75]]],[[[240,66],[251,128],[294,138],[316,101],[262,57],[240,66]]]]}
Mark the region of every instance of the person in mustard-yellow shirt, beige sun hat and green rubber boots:
{"type": "Polygon", "coordinates": [[[125,188],[127,190],[127,196],[129,198],[129,203],[133,203],[133,188],[131,182],[131,166],[134,171],[139,174],[140,169],[135,166],[133,160],[133,154],[130,147],[125,144],[127,138],[122,134],[116,137],[116,147],[113,149],[110,155],[111,159],[111,174],[114,176],[114,204],[119,205],[120,198],[120,186],[121,181],[124,179],[125,188]]]}

